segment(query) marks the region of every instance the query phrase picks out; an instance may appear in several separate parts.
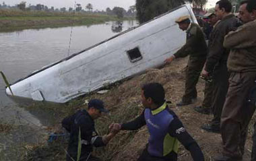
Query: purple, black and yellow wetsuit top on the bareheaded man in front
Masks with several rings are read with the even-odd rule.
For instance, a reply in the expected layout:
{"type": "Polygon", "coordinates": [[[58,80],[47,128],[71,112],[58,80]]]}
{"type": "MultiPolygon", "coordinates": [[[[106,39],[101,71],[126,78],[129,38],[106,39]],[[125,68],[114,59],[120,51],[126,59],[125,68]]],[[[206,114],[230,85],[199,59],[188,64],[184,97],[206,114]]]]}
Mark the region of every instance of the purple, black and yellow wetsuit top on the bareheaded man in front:
{"type": "Polygon", "coordinates": [[[166,103],[155,110],[146,108],[135,120],[121,125],[121,129],[136,130],[144,125],[147,125],[150,133],[147,146],[150,156],[176,161],[178,143],[181,142],[191,152],[193,160],[204,160],[196,141],[187,133],[177,115],[166,103]]]}

